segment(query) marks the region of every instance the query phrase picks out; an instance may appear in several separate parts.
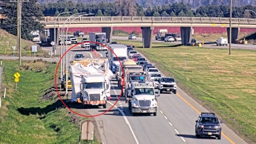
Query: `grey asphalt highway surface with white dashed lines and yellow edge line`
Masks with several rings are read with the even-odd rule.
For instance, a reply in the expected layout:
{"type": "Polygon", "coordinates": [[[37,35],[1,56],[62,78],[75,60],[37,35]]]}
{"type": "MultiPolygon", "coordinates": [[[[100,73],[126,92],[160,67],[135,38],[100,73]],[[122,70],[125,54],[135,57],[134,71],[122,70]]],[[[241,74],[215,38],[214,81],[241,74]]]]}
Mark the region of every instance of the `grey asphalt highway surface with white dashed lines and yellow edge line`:
{"type": "MultiPolygon", "coordinates": [[[[127,38],[125,37],[125,39],[127,38]]],[[[105,52],[98,51],[98,57],[105,56],[105,52]]],[[[76,53],[82,53],[88,58],[96,58],[94,52],[81,51],[77,48],[68,52],[68,61],[73,60],[76,53]]],[[[12,57],[5,58],[12,59],[12,57]]],[[[23,57],[23,59],[25,58],[23,57]]],[[[50,59],[47,58],[45,60],[50,59]]],[[[58,60],[54,59],[54,61],[58,60]]],[[[117,87],[117,81],[112,79],[111,99],[108,100],[107,108],[91,107],[90,109],[79,109],[79,112],[82,114],[89,113],[90,115],[105,112],[114,105],[120,92],[121,90],[117,87]]],[[[179,88],[177,88],[177,94],[163,93],[160,95],[157,116],[147,114],[132,116],[127,106],[124,98],[120,97],[113,109],[96,117],[96,120],[102,122],[99,134],[104,144],[246,143],[225,124],[221,125],[223,128],[221,140],[217,140],[214,137],[196,138],[195,120],[198,118],[199,113],[208,111],[179,88]]],[[[218,112],[215,113],[218,114],[218,112]]]]}

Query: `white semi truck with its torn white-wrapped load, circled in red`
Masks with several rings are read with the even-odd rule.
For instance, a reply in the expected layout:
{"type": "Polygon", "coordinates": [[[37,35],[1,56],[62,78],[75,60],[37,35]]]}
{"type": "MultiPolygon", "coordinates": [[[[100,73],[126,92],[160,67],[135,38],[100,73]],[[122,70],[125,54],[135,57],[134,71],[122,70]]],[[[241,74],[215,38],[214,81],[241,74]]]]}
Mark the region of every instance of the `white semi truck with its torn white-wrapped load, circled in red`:
{"type": "Polygon", "coordinates": [[[110,96],[110,79],[113,73],[107,68],[106,58],[73,61],[70,66],[72,101],[83,108],[98,105],[106,108],[110,96]]]}

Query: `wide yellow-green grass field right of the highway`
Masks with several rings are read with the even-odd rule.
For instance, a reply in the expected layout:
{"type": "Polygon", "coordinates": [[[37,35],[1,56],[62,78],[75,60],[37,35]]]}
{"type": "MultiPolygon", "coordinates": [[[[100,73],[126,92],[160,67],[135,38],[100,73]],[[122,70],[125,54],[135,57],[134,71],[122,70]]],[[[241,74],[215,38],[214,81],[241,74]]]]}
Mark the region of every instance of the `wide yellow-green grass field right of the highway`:
{"type": "MultiPolygon", "coordinates": [[[[118,41],[131,44],[130,41],[118,41]]],[[[141,42],[133,42],[141,47],[141,42]]],[[[256,51],[189,46],[136,48],[235,132],[256,142],[256,51]],[[184,60],[186,71],[184,70],[184,60]]],[[[179,93],[179,92],[178,92],[179,93]]]]}

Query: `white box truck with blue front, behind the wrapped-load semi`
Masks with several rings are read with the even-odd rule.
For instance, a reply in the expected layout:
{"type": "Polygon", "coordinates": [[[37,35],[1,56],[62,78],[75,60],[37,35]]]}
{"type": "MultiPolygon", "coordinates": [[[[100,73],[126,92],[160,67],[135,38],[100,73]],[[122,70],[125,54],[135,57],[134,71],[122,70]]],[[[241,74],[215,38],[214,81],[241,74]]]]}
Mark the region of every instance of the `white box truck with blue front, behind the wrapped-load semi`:
{"type": "Polygon", "coordinates": [[[109,65],[112,72],[117,71],[117,67],[120,65],[120,62],[118,61],[117,57],[120,61],[123,61],[125,59],[128,59],[127,57],[127,47],[122,44],[113,44],[108,45],[108,47],[116,54],[114,54],[112,51],[108,50],[108,60],[109,65]]]}

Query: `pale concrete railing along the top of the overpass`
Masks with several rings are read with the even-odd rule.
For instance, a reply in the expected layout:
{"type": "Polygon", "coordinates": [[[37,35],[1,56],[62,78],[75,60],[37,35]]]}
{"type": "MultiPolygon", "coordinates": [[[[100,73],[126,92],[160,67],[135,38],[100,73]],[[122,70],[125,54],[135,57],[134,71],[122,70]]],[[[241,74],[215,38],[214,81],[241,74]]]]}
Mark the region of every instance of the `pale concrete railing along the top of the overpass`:
{"type": "MultiPolygon", "coordinates": [[[[56,17],[42,17],[41,23],[52,24],[56,17]]],[[[68,17],[57,17],[56,22],[64,22],[68,17]]],[[[75,17],[70,18],[72,21],[75,17]]],[[[224,17],[147,17],[147,16],[92,16],[79,17],[73,23],[229,23],[224,17]]],[[[233,24],[256,24],[252,18],[232,18],[233,24]]]]}

